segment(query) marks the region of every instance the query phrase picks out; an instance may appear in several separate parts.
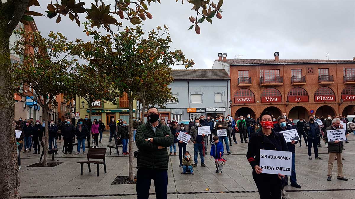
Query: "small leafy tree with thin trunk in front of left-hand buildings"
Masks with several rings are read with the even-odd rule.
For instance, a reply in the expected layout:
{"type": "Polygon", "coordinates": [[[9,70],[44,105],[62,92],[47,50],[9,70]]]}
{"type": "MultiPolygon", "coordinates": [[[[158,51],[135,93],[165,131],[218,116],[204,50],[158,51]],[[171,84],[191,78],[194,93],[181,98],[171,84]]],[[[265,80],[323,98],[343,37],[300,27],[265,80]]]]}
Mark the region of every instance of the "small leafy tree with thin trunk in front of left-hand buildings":
{"type": "MultiPolygon", "coordinates": [[[[12,50],[23,56],[23,62],[13,65],[14,85],[26,85],[35,91],[38,104],[44,111],[43,120],[47,122],[49,108],[58,105],[56,95],[64,93],[65,96],[70,96],[76,93],[77,59],[68,53],[69,44],[61,33],[51,32],[48,39],[42,37],[40,32],[27,32],[22,29],[17,30],[15,34],[20,39],[15,42],[12,50]]],[[[47,166],[48,125],[45,125],[43,141],[43,166],[47,166]]]]}

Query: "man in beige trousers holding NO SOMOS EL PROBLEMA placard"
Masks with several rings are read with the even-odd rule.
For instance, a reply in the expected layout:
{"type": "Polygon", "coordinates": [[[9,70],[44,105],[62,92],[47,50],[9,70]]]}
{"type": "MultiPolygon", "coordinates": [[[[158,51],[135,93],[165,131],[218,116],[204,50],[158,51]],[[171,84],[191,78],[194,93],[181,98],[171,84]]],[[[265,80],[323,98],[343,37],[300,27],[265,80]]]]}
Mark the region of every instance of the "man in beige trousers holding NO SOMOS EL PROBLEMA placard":
{"type": "MultiPolygon", "coordinates": [[[[340,125],[340,119],[336,118],[332,120],[332,125],[326,128],[326,131],[330,130],[337,130],[337,129],[343,129],[343,125],[340,125]]],[[[343,152],[343,141],[328,141],[327,133],[324,133],[324,140],[328,143],[328,154],[329,154],[329,159],[328,159],[328,178],[327,181],[332,180],[332,170],[333,170],[333,162],[334,158],[337,160],[337,165],[338,165],[338,180],[344,180],[348,181],[343,176],[343,163],[342,163],[342,152],[343,152]]]]}

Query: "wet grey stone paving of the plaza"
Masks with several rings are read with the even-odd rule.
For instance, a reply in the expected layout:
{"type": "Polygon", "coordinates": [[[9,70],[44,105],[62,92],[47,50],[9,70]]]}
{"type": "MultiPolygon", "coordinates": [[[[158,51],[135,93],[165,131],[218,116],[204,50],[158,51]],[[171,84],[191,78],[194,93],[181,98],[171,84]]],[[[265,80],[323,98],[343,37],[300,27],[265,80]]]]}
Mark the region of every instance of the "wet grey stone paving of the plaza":
{"type": "MultiPolygon", "coordinates": [[[[239,137],[239,135],[237,135],[239,137]]],[[[104,134],[103,141],[99,147],[108,145],[108,133],[104,134]]],[[[303,139],[303,138],[302,138],[303,139]]],[[[350,134],[349,142],[344,142],[343,172],[344,177],[349,181],[337,180],[337,164],[334,161],[333,178],[327,181],[328,153],[324,142],[319,148],[320,157],[317,160],[312,154],[312,160],[308,160],[307,148],[304,142],[302,147],[296,145],[296,176],[301,189],[287,186],[291,198],[353,198],[355,199],[355,139],[350,134]],[[331,190],[331,189],[339,189],[331,190]],[[349,190],[350,189],[350,190],[349,190]]],[[[106,153],[107,173],[104,173],[103,166],[100,166],[100,175],[96,176],[96,165],[92,165],[92,172],[88,172],[87,165],[84,165],[83,175],[80,175],[79,160],[86,160],[86,155],[75,155],[62,153],[63,140],[58,143],[58,155],[55,155],[54,162],[62,162],[55,167],[26,167],[37,163],[40,155],[21,152],[22,167],[20,170],[21,197],[22,198],[137,198],[135,184],[111,185],[117,176],[128,175],[128,156],[115,156],[115,150],[109,155],[106,153]]],[[[177,146],[177,144],[176,144],[177,146]]],[[[134,146],[136,149],[136,145],[134,146]]],[[[121,147],[119,148],[122,149],[121,147]]],[[[209,152],[210,146],[208,146],[209,152]]],[[[168,149],[169,150],[169,149],[168,149]]],[[[187,150],[193,154],[193,145],[189,143],[187,150]]],[[[177,151],[178,152],[178,151],[177,151]]],[[[251,167],[246,159],[247,143],[234,144],[231,146],[233,155],[224,155],[227,160],[223,168],[223,174],[215,174],[214,160],[206,155],[206,167],[201,167],[198,157],[198,167],[195,168],[195,175],[181,174],[179,167],[179,156],[169,156],[168,170],[168,198],[259,198],[257,188],[252,178],[251,167]]],[[[313,153],[313,149],[312,149],[313,153]]],[[[51,157],[48,158],[49,162],[51,157]]],[[[136,166],[136,158],[134,166],[136,166]]],[[[135,170],[136,173],[136,170],[135,170]]],[[[154,193],[152,182],[150,193],[154,193]]],[[[150,198],[155,198],[152,194],[150,198]]]]}

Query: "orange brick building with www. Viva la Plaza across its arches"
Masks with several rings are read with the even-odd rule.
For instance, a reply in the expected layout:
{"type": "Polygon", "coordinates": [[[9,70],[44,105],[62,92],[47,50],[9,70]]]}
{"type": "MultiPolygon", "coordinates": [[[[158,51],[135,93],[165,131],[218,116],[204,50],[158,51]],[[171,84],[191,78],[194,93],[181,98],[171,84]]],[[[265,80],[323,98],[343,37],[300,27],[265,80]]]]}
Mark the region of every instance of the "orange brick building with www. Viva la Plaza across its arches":
{"type": "Polygon", "coordinates": [[[355,114],[355,57],[350,60],[226,59],[213,69],[230,74],[232,115],[258,116],[263,110],[289,118],[355,114]]]}

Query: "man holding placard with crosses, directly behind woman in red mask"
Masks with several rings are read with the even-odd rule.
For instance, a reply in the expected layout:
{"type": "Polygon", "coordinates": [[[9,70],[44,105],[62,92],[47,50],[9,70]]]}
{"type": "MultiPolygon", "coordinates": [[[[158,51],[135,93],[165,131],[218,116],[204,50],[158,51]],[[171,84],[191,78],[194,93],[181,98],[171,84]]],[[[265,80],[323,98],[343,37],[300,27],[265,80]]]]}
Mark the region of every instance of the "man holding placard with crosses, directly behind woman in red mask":
{"type": "MultiPolygon", "coordinates": [[[[279,125],[277,127],[274,128],[275,132],[282,132],[282,131],[288,131],[288,130],[292,130],[294,129],[293,126],[290,126],[286,123],[286,119],[283,116],[279,116],[277,118],[279,125]]],[[[298,141],[291,141],[291,142],[287,142],[287,148],[289,152],[292,152],[292,156],[291,156],[291,160],[292,160],[292,164],[291,164],[291,176],[290,176],[290,181],[291,181],[291,187],[296,187],[296,188],[301,188],[301,186],[299,184],[297,184],[297,179],[296,179],[296,167],[295,167],[295,155],[296,155],[296,151],[295,151],[295,144],[297,144],[298,141]]],[[[288,185],[288,177],[285,176],[284,178],[284,186],[288,185]]]]}

